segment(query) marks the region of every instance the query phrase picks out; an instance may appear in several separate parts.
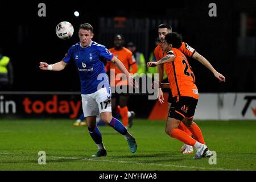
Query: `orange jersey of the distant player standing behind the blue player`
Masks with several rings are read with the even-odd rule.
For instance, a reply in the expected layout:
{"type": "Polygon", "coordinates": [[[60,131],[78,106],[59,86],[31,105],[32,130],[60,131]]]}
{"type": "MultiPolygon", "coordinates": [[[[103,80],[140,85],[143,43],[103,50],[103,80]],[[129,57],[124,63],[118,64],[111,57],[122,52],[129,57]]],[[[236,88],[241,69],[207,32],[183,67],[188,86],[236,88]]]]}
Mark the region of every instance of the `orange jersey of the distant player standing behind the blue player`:
{"type": "MultiPolygon", "coordinates": [[[[136,61],[133,58],[133,53],[125,47],[118,51],[115,48],[111,48],[109,51],[112,52],[113,55],[123,63],[123,65],[125,65],[125,68],[128,71],[130,70],[131,65],[136,64],[136,61]]],[[[105,71],[109,72],[110,69],[115,69],[115,77],[118,73],[122,73],[114,64],[107,62],[105,71]]],[[[120,80],[115,80],[115,77],[110,77],[110,86],[128,85],[127,80],[122,80],[122,78],[120,78],[120,80]]]]}

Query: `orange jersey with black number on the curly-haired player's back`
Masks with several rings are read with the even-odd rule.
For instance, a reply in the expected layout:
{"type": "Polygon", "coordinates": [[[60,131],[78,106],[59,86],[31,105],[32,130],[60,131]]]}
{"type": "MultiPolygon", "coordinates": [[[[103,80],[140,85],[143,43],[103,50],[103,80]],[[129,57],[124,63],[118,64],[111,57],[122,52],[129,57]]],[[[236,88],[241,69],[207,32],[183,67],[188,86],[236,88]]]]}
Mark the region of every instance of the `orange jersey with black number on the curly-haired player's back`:
{"type": "Polygon", "coordinates": [[[171,63],[165,64],[165,71],[168,76],[172,96],[187,96],[198,99],[199,93],[195,84],[195,75],[188,63],[187,57],[176,48],[164,53],[174,54],[175,59],[171,63]]]}

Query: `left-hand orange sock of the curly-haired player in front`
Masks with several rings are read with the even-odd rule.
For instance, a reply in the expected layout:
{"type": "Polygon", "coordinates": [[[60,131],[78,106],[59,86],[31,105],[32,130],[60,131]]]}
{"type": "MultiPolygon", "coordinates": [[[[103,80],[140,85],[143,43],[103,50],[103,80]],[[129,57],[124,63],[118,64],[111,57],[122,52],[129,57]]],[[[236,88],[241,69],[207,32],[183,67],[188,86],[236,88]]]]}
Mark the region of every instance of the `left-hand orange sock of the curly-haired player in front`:
{"type": "Polygon", "coordinates": [[[171,137],[176,138],[177,140],[180,140],[181,142],[188,144],[189,146],[194,146],[196,143],[196,140],[189,136],[185,131],[182,131],[180,129],[174,129],[171,132],[171,137]]]}

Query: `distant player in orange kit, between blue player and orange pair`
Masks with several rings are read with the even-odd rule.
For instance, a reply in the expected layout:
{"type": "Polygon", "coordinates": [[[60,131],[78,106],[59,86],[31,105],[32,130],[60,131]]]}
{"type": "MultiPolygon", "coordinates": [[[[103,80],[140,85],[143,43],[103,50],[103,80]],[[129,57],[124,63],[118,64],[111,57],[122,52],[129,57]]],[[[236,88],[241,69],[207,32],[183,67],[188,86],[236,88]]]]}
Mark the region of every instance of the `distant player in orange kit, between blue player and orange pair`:
{"type": "MultiPolygon", "coordinates": [[[[120,34],[115,35],[114,37],[114,47],[110,48],[109,51],[113,53],[113,55],[117,56],[119,60],[125,65],[126,69],[130,73],[137,73],[138,71],[138,66],[136,64],[136,61],[134,59],[133,53],[123,47],[124,39],[123,36],[120,34]]],[[[129,111],[127,107],[127,101],[129,98],[128,95],[128,82],[127,80],[118,80],[116,79],[116,76],[118,73],[122,73],[119,71],[117,67],[113,64],[107,63],[105,65],[105,71],[109,72],[110,69],[114,69],[115,71],[115,77],[110,77],[110,86],[113,88],[119,88],[119,89],[125,89],[127,92],[126,93],[112,93],[112,109],[113,111],[117,111],[121,115],[123,125],[126,127],[129,124],[129,127],[133,125],[132,118],[134,117],[134,112],[129,111]],[[118,103],[118,104],[117,104],[118,103]],[[130,119],[131,118],[131,119],[130,119]]]]}

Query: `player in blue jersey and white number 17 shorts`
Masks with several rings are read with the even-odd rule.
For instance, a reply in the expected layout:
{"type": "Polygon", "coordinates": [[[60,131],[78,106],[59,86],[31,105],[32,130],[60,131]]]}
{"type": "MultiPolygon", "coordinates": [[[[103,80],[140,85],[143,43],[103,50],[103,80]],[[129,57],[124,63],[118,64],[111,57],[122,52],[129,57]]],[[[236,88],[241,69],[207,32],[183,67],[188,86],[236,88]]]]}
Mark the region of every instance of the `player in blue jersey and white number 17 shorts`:
{"type": "Polygon", "coordinates": [[[71,59],[75,61],[81,82],[82,110],[90,136],[98,146],[98,151],[93,157],[106,156],[107,154],[100,130],[96,124],[96,115],[98,114],[100,114],[102,121],[126,138],[130,151],[134,153],[137,151],[135,138],[127,131],[122,122],[112,117],[109,80],[101,59],[104,58],[115,64],[129,79],[131,86],[138,87],[138,83],[109,49],[92,41],[93,35],[93,27],[89,23],[81,24],[79,27],[80,42],[69,48],[64,59],[55,64],[40,62],[39,68],[45,71],[61,71],[71,59]]]}

